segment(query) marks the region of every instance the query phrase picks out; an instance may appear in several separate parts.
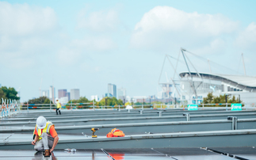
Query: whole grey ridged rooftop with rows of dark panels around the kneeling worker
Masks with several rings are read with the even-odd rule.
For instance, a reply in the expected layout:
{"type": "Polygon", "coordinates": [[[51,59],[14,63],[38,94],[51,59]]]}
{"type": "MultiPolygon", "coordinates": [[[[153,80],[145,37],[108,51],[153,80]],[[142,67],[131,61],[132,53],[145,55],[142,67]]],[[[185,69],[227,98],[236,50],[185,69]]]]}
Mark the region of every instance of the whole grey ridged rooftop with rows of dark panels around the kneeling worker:
{"type": "MultiPolygon", "coordinates": [[[[97,116],[97,113],[101,113],[102,111],[95,111],[95,116],[97,116]]],[[[112,112],[118,112],[118,111],[112,111],[112,112]]],[[[157,111],[154,111],[157,112],[157,111]]],[[[170,111],[171,112],[171,111],[170,111]]],[[[182,111],[181,111],[182,112],[182,111]]],[[[208,114],[210,111],[197,111],[197,113],[201,112],[203,116],[208,118],[208,114]]],[[[212,112],[216,112],[212,110],[212,112]]],[[[35,113],[39,113],[40,111],[37,110],[36,112],[28,112],[23,114],[18,114],[17,116],[13,116],[9,120],[20,118],[19,116],[29,117],[34,115],[35,113]]],[[[55,116],[54,112],[47,113],[49,117],[55,116]]],[[[93,112],[76,112],[76,113],[82,113],[84,115],[92,115],[93,112]]],[[[109,115],[110,112],[106,112],[106,115],[109,115]]],[[[220,111],[220,114],[227,113],[226,111],[220,111]]],[[[250,112],[229,112],[228,114],[232,114],[233,116],[238,116],[239,114],[251,114],[254,113],[254,111],[250,112]]],[[[43,114],[43,112],[41,112],[43,114]]],[[[74,113],[73,113],[74,114],[74,113]]],[[[130,114],[130,113],[128,113],[130,114]]],[[[139,115],[139,112],[136,112],[136,114],[139,115]]],[[[71,116],[71,112],[63,111],[64,116],[71,116]]],[[[230,116],[230,115],[228,115],[230,116]]],[[[59,117],[60,116],[55,116],[59,117]]],[[[218,114],[216,114],[216,117],[218,114]]],[[[63,119],[64,120],[64,119],[63,119]]],[[[25,120],[29,122],[29,120],[25,120]]],[[[209,120],[208,120],[209,121],[209,120]]],[[[211,120],[212,124],[217,124],[220,126],[220,122],[227,121],[227,115],[225,116],[225,120],[211,120]]],[[[72,134],[59,134],[59,144],[55,148],[51,158],[44,158],[42,152],[36,152],[33,150],[33,146],[31,145],[32,142],[32,131],[29,131],[25,133],[24,131],[17,131],[17,132],[11,132],[11,133],[1,133],[0,134],[0,143],[2,146],[2,149],[0,150],[0,159],[51,159],[51,160],[65,160],[65,159],[90,159],[90,160],[103,160],[103,159],[112,159],[112,160],[122,160],[122,159],[141,159],[141,160],[155,160],[155,159],[176,159],[176,160],[187,160],[187,159],[207,159],[207,160],[228,160],[228,159],[255,159],[256,160],[256,149],[254,147],[255,143],[255,136],[256,136],[256,130],[254,129],[254,121],[255,119],[239,119],[238,126],[239,128],[242,127],[242,129],[239,130],[228,130],[224,131],[224,129],[220,129],[216,131],[205,131],[206,127],[204,128],[204,131],[181,131],[181,132],[166,132],[166,133],[154,133],[150,136],[148,134],[139,134],[135,135],[129,135],[127,134],[125,137],[118,137],[118,138],[110,138],[107,139],[105,135],[98,135],[97,139],[91,138],[90,135],[82,135],[80,132],[80,135],[72,135],[72,134]],[[242,121],[241,121],[242,120],[242,121]],[[248,121],[248,122],[247,122],[248,121]],[[248,125],[249,128],[247,130],[245,129],[246,125],[245,123],[250,123],[248,125]],[[31,132],[31,133],[30,133],[31,132]],[[145,137],[148,137],[148,139],[145,139],[145,141],[141,140],[145,137]],[[184,137],[184,138],[182,138],[184,137]],[[205,137],[205,139],[204,139],[205,137]],[[221,138],[222,137],[222,138],[221,138]],[[154,139],[155,141],[153,141],[154,139]],[[202,138],[202,139],[201,139],[202,138]],[[241,138],[241,139],[240,139],[241,138]],[[175,140],[176,139],[176,140],[175,140]],[[179,140],[180,139],[180,140],[179,140]],[[220,144],[226,143],[228,145],[231,145],[231,143],[235,142],[236,144],[239,143],[238,147],[213,147],[210,146],[207,141],[210,143],[210,139],[212,139],[213,143],[216,143],[213,146],[221,146],[220,144]],[[123,140],[123,141],[122,141],[123,140]],[[146,143],[146,140],[148,143],[146,143]],[[161,141],[162,140],[162,141],[161,141]],[[88,141],[88,142],[87,142],[88,141]],[[117,142],[117,141],[122,141],[117,142]],[[168,141],[166,143],[166,141],[168,141]],[[201,141],[201,142],[199,142],[201,141]],[[68,142],[68,143],[67,143],[68,142]],[[108,143],[109,142],[109,143],[108,143]],[[132,143],[133,142],[133,143],[132,143]],[[159,143],[159,146],[157,147],[157,144],[159,143]],[[201,145],[200,143],[204,142],[206,145],[201,145]],[[206,143],[205,143],[206,142],[206,143]],[[12,143],[15,143],[15,145],[12,143]],[[27,147],[19,147],[18,145],[24,144],[24,146],[27,144],[27,147]],[[119,143],[119,145],[118,145],[119,143]],[[169,146],[165,146],[169,145],[169,146]],[[181,145],[181,143],[183,143],[181,145]],[[198,143],[198,145],[196,145],[198,143]],[[104,145],[105,144],[105,145],[104,145]],[[151,147],[151,144],[154,144],[155,147],[151,147]],[[110,145],[110,146],[109,146],[110,145]],[[112,146],[111,146],[112,145],[112,146]],[[113,146],[115,146],[113,148],[113,146]],[[124,145],[129,146],[128,148],[125,148],[124,145]],[[143,145],[143,147],[141,147],[143,145]],[[14,147],[15,146],[15,147],[14,147]],[[59,146],[59,148],[58,148],[59,146]],[[123,146],[123,147],[122,147],[123,146]],[[140,146],[140,148],[139,148],[140,146]],[[197,146],[197,147],[195,147],[197,146]],[[209,148],[207,148],[209,147],[209,148]],[[15,148],[15,149],[14,149],[15,148]],[[75,152],[70,152],[65,149],[72,149],[75,148],[75,152]]],[[[19,122],[19,120],[15,120],[13,122],[2,122],[2,123],[16,123],[19,122]]],[[[207,120],[191,120],[191,121],[181,121],[181,122],[168,122],[168,123],[181,123],[181,124],[201,124],[206,123],[207,120]]],[[[32,122],[34,125],[35,122],[32,122]]],[[[164,122],[162,122],[164,123],[164,122]]],[[[166,122],[167,123],[167,122],[166,122]]],[[[29,123],[30,124],[30,123],[29,123]]],[[[231,127],[231,122],[227,123],[229,127],[231,127]]],[[[56,131],[58,128],[58,124],[55,124],[56,131]]],[[[123,125],[123,124],[122,124],[123,125]]],[[[128,125],[128,124],[124,124],[128,125]]],[[[136,126],[135,124],[133,124],[136,126]]],[[[148,125],[148,124],[147,124],[148,125]]],[[[209,125],[209,124],[207,124],[209,125]]],[[[182,128],[182,125],[178,124],[180,128],[182,128]]],[[[6,129],[6,128],[31,128],[32,126],[27,125],[4,125],[1,126],[0,129],[6,129]]],[[[67,126],[68,127],[68,126],[67,126]]],[[[69,126],[74,128],[75,126],[69,126]]],[[[173,128],[169,124],[168,126],[163,126],[163,128],[173,128]]],[[[105,128],[102,126],[102,130],[105,128]]],[[[160,129],[161,129],[160,128],[160,129]]],[[[186,127],[187,128],[187,127],[186,127]]],[[[96,132],[97,134],[97,132],[96,132]]],[[[211,142],[211,143],[212,143],[211,142]]],[[[235,144],[234,143],[234,144],[235,144]]],[[[227,146],[228,146],[227,145],[227,146]]]]}

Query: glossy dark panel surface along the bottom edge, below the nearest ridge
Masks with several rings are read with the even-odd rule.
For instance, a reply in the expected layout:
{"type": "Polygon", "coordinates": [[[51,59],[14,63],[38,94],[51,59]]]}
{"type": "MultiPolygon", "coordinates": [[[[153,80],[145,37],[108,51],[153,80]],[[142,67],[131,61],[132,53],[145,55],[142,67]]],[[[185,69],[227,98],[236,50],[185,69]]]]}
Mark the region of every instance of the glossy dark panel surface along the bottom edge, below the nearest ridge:
{"type": "MultiPolygon", "coordinates": [[[[225,149],[219,149],[225,150],[225,149]]],[[[230,154],[235,154],[244,159],[256,159],[256,154],[252,153],[254,148],[231,148],[230,154]],[[246,154],[240,154],[238,151],[246,151],[246,154]],[[234,153],[233,153],[234,152],[234,153]]],[[[35,150],[0,150],[0,159],[44,159],[41,152],[35,150]]],[[[181,148],[181,149],[159,149],[159,148],[146,148],[146,149],[126,149],[126,150],[76,150],[76,152],[68,152],[66,150],[55,150],[52,154],[52,160],[66,160],[66,159],[90,159],[90,160],[122,160],[122,159],[141,159],[141,160],[155,160],[155,159],[178,159],[178,160],[191,160],[191,159],[207,159],[207,160],[231,160],[229,156],[217,154],[212,151],[203,150],[201,148],[181,148]]]]}

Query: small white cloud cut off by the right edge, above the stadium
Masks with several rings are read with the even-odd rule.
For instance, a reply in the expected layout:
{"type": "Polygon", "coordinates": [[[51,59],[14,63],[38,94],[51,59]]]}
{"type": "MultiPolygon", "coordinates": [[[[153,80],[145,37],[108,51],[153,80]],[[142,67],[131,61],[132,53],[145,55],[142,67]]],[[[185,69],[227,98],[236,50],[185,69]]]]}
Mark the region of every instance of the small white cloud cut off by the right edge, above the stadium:
{"type": "Polygon", "coordinates": [[[240,48],[255,48],[256,24],[254,22],[248,25],[243,32],[239,33],[235,44],[238,44],[240,48]]]}

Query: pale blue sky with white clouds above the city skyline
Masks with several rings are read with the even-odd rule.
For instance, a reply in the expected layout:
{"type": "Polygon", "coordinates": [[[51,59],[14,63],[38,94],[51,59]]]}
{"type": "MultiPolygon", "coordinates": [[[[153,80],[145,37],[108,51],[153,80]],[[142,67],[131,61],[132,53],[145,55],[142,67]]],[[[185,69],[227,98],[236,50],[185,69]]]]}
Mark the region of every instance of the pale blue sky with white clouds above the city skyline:
{"type": "MultiPolygon", "coordinates": [[[[219,74],[243,74],[243,53],[246,74],[256,76],[255,6],[252,0],[0,1],[0,84],[19,90],[21,101],[52,85],[87,98],[102,97],[108,83],[130,97],[156,95],[165,55],[177,59],[181,48],[197,55],[186,53],[197,70],[209,72],[209,59],[219,74]]],[[[170,64],[163,70],[162,82],[174,74],[170,64]]],[[[187,71],[184,63],[180,71],[187,71]]]]}

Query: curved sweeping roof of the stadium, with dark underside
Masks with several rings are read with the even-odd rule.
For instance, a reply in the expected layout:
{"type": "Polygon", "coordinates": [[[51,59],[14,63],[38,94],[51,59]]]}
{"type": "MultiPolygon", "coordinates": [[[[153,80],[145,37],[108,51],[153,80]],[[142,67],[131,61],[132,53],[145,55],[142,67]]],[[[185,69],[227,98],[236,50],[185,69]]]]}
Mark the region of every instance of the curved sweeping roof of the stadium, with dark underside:
{"type": "MultiPolygon", "coordinates": [[[[213,80],[230,83],[232,86],[238,86],[239,88],[245,90],[256,91],[256,77],[253,76],[208,73],[197,74],[197,72],[190,73],[193,77],[199,77],[198,74],[200,74],[202,78],[211,78],[213,80]]],[[[181,76],[181,78],[183,78],[185,77],[185,74],[189,74],[189,72],[181,72],[179,75],[181,76]]]]}

